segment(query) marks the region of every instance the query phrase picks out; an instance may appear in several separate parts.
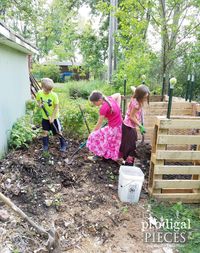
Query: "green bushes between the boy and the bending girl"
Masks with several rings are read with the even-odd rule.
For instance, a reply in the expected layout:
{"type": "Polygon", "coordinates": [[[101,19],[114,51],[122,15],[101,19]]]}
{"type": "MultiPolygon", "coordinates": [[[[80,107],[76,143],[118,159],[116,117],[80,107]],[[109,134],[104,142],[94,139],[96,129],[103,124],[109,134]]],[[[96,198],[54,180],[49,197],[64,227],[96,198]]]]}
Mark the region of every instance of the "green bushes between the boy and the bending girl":
{"type": "Polygon", "coordinates": [[[118,92],[116,87],[103,83],[102,81],[79,81],[65,84],[56,84],[54,91],[59,96],[60,118],[64,131],[79,139],[88,136],[88,131],[82,118],[79,106],[81,105],[90,129],[92,130],[98,119],[98,108],[92,106],[87,95],[93,90],[100,90],[105,95],[118,92]],[[70,99],[71,91],[75,91],[76,99],[70,99]],[[83,99],[84,98],[84,99],[83,99]],[[86,99],[87,100],[86,100],[86,99]]]}

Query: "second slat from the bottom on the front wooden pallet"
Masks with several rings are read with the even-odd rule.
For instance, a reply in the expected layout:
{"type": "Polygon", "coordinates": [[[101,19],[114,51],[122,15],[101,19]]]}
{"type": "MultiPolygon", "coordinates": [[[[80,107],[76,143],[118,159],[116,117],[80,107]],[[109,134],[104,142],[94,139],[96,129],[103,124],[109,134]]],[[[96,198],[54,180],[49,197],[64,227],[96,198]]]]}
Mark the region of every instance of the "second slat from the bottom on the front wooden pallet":
{"type": "Polygon", "coordinates": [[[154,180],[154,188],[196,189],[200,188],[200,180],[154,180]]]}

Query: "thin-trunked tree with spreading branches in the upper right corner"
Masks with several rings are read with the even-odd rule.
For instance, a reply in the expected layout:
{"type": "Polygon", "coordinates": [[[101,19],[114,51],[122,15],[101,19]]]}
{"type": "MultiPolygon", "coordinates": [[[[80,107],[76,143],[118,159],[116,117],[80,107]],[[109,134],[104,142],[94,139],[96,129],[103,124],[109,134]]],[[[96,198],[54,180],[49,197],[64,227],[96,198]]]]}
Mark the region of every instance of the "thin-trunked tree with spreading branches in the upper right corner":
{"type": "Polygon", "coordinates": [[[161,76],[166,76],[164,93],[167,93],[169,74],[175,60],[187,50],[191,43],[189,39],[195,36],[200,25],[198,1],[194,0],[159,0],[154,9],[152,24],[159,32],[161,50],[161,76]]]}

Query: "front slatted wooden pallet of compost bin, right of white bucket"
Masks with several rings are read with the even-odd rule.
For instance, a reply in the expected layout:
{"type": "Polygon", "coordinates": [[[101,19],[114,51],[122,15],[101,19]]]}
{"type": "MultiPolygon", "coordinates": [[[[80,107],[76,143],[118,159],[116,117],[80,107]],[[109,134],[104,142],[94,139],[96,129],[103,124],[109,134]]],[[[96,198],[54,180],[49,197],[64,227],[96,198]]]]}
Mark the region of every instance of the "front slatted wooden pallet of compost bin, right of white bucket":
{"type": "Polygon", "coordinates": [[[200,203],[200,117],[157,117],[149,193],[162,201],[200,203]]]}

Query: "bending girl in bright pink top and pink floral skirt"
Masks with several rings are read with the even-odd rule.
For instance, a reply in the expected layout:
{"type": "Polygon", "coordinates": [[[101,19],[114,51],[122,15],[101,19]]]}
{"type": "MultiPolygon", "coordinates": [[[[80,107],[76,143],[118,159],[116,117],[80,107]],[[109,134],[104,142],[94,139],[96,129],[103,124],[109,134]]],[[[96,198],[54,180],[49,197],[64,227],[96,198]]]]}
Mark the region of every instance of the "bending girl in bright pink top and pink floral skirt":
{"type": "Polygon", "coordinates": [[[87,147],[96,156],[116,161],[119,158],[122,136],[121,95],[116,93],[104,97],[101,92],[93,91],[90,101],[100,109],[99,119],[88,137],[87,147]],[[104,119],[108,120],[108,125],[101,128],[104,119]]]}

